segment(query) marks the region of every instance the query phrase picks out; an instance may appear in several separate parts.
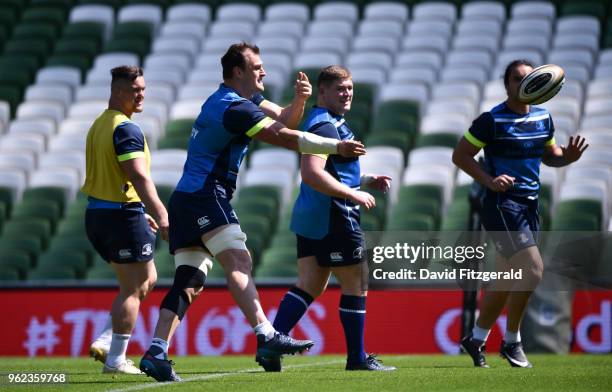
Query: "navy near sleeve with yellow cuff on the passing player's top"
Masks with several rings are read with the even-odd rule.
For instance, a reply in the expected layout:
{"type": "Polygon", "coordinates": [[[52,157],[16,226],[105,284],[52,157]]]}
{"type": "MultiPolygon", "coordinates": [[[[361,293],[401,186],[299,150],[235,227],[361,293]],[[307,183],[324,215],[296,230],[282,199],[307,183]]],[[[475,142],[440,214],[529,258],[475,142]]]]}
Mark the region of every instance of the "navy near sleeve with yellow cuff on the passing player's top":
{"type": "Polygon", "coordinates": [[[235,135],[253,137],[273,122],[251,101],[235,102],[223,114],[223,126],[235,135]]]}

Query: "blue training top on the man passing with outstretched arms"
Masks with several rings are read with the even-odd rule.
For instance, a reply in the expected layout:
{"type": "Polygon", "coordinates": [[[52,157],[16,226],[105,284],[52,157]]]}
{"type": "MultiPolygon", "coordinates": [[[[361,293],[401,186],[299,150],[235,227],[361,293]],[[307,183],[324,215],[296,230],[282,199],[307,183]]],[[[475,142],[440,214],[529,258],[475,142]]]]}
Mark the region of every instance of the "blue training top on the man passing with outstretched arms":
{"type": "Polygon", "coordinates": [[[274,122],[257,106],[263,100],[261,94],[243,98],[224,84],[208,97],[191,129],[177,191],[203,193],[215,182],[236,188],[251,137],[274,122]]]}

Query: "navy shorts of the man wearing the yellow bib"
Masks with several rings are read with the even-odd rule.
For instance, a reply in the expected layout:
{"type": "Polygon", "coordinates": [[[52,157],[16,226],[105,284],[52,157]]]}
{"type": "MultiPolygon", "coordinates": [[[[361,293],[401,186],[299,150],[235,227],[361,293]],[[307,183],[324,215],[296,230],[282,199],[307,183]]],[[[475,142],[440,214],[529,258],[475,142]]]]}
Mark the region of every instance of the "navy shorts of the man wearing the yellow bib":
{"type": "Polygon", "coordinates": [[[107,262],[128,264],[153,259],[155,233],[142,211],[88,208],[85,230],[96,252],[107,262]]]}

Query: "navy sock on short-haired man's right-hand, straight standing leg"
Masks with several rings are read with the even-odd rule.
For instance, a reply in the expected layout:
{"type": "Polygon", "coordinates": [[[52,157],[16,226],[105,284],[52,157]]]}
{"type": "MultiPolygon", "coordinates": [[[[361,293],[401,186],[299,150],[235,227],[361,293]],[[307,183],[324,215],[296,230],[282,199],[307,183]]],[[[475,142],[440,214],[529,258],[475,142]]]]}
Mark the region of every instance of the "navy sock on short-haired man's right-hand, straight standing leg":
{"type": "Polygon", "coordinates": [[[340,321],[346,338],[347,361],[364,362],[366,353],[363,342],[365,328],[366,297],[342,294],[340,297],[340,321]]]}

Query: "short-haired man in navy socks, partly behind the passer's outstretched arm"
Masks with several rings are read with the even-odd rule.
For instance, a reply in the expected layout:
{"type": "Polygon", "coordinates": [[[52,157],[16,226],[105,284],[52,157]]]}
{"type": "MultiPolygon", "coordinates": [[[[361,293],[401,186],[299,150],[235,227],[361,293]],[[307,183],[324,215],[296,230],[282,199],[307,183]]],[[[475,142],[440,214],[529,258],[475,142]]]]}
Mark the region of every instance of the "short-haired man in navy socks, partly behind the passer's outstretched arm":
{"type": "MultiPolygon", "coordinates": [[[[305,129],[338,140],[352,140],[344,115],[351,109],[353,81],[348,69],[332,65],[318,78],[317,105],[305,129]]],[[[391,178],[361,174],[357,157],[302,154],[302,184],[293,208],[291,230],[297,235],[298,281],[280,303],[274,328],[284,334],[327,287],[331,273],[342,289],[339,313],[347,346],[346,370],[389,371],[364,348],[368,265],[359,208],[375,207],[360,187],[387,191],[391,178]]],[[[280,371],[280,356],[264,357],[266,371],[280,371]]]]}

